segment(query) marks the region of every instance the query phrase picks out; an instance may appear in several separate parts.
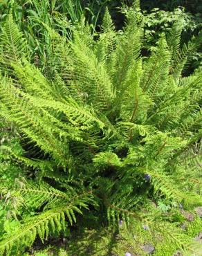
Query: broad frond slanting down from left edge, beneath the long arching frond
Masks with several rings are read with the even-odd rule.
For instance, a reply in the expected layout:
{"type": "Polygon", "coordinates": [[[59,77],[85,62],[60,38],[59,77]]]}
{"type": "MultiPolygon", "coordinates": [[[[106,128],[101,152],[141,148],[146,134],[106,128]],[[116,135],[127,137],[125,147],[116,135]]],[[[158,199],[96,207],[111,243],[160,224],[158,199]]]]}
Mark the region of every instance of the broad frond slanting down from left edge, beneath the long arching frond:
{"type": "Polygon", "coordinates": [[[30,138],[46,154],[52,155],[59,162],[66,163],[64,152],[67,153],[68,149],[66,146],[62,146],[62,143],[58,147],[57,138],[53,135],[57,131],[60,136],[64,136],[64,131],[55,127],[53,122],[53,127],[50,129],[50,120],[56,120],[56,118],[52,116],[50,119],[50,114],[47,111],[38,105],[37,108],[36,105],[33,106],[26,98],[26,94],[10,85],[10,81],[6,78],[1,80],[1,92],[1,116],[10,122],[15,122],[24,136],[30,138]],[[46,127],[46,123],[49,123],[48,127],[46,127]]]}

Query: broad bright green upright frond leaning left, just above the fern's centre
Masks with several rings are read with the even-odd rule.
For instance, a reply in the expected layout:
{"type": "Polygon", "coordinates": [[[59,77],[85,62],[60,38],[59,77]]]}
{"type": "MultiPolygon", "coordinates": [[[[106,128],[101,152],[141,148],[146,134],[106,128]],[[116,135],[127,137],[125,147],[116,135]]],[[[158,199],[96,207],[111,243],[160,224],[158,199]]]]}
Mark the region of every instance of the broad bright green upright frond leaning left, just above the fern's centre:
{"type": "Polygon", "coordinates": [[[77,35],[71,46],[75,65],[75,90],[86,93],[86,102],[95,109],[109,109],[114,98],[113,86],[106,68],[77,35]]]}

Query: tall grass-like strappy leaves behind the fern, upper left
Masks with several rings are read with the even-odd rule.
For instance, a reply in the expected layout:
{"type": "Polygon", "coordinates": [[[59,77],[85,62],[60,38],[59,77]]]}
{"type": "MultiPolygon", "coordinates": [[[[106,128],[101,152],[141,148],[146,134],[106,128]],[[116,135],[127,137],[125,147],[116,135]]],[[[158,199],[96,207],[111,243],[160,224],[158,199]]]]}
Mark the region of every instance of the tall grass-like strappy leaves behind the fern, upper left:
{"type": "Polygon", "coordinates": [[[84,19],[89,20],[91,33],[95,31],[98,15],[94,15],[91,6],[85,7],[77,0],[66,1],[4,1],[1,6],[1,24],[6,20],[12,8],[12,15],[19,29],[23,31],[28,42],[32,62],[45,70],[50,62],[51,44],[50,35],[45,26],[57,33],[72,37],[72,28],[84,19]]]}

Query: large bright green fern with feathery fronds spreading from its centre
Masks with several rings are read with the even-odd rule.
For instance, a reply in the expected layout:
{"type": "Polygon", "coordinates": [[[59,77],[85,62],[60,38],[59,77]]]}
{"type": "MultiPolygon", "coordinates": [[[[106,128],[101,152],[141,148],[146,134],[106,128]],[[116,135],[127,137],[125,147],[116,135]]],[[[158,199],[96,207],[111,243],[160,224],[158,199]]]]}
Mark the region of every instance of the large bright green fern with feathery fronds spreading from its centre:
{"type": "Polygon", "coordinates": [[[14,185],[1,181],[2,205],[10,205],[17,225],[1,236],[0,255],[75,225],[82,208],[102,212],[100,223],[113,230],[135,230],[142,243],[172,245],[164,255],[201,251],[179,227],[186,211],[202,203],[202,73],[181,75],[201,35],[181,46],[174,26],[142,57],[138,1],[124,30],[115,30],[108,10],[103,20],[98,39],[81,23],[71,42],[44,24],[51,38],[45,74],[30,62],[11,13],[2,28],[0,114],[15,125],[21,152],[1,150],[26,175],[14,185]],[[165,216],[158,200],[175,207],[165,216]],[[145,235],[144,225],[154,235],[145,235]]]}

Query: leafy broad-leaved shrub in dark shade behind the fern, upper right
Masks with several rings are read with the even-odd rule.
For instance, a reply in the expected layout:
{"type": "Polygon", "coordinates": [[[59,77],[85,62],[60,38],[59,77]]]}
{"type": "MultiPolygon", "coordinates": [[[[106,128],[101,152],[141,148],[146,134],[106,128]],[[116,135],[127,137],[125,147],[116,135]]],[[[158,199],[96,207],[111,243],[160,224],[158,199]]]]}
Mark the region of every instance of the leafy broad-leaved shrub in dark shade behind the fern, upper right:
{"type": "MultiPolygon", "coordinates": [[[[173,29],[178,29],[178,44],[183,44],[197,36],[201,30],[201,15],[192,15],[185,12],[184,8],[176,8],[173,11],[160,10],[154,8],[151,12],[145,12],[145,48],[153,51],[155,44],[162,33],[173,33],[173,29]]],[[[173,44],[174,46],[174,44],[173,44]]],[[[201,52],[190,54],[190,70],[201,65],[201,52]]]]}

